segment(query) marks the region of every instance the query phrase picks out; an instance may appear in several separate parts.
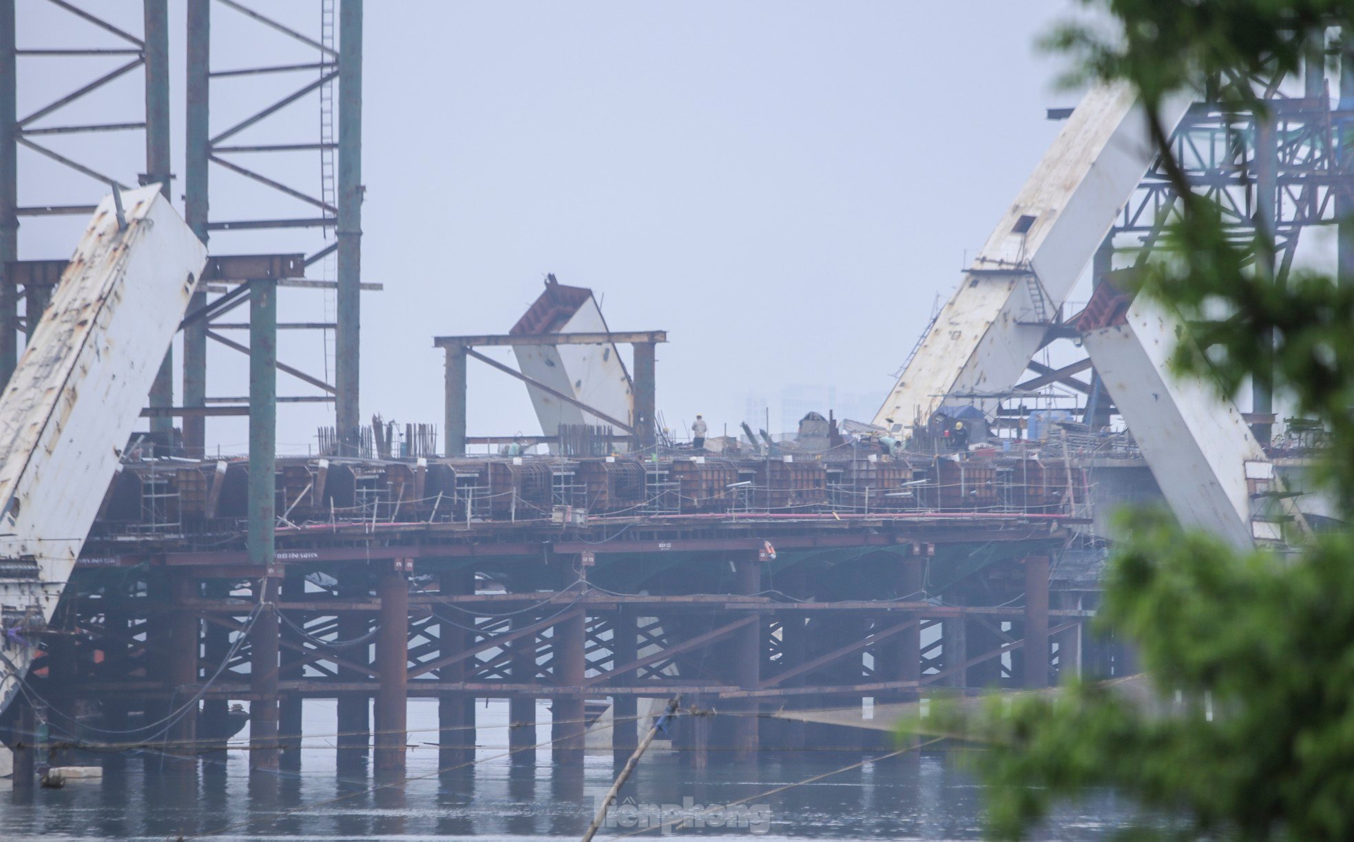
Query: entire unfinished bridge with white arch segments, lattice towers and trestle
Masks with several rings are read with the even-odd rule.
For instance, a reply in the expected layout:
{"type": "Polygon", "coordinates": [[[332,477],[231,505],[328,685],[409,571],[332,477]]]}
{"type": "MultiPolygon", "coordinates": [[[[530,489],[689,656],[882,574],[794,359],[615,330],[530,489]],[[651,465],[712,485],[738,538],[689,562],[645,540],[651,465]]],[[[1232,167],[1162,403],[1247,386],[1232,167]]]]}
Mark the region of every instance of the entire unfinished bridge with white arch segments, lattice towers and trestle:
{"type": "MultiPolygon", "coordinates": [[[[697,766],[714,751],[873,747],[876,731],[806,712],[864,719],[932,693],[1136,671],[1113,629],[1089,625],[1114,505],[1158,502],[1277,550],[1320,517],[1301,493],[1320,430],[1284,424],[1267,394],[1243,412],[1177,378],[1181,325],[1127,292],[1175,198],[1125,89],[1056,115],[1059,138],[869,422],[812,413],[780,437],[745,424],[673,440],[655,365],[666,332],[612,330],[592,290],[551,276],[506,333],[420,340],[412,353],[444,356],[428,387],[445,414],[397,428],[357,412],[362,1],[322,0],[320,31],[301,32],[190,0],[181,215],[165,0],[145,0],[142,35],[103,27],[146,76],[148,175],[137,190],[103,180],[88,206],[18,203],[15,149],[41,154],[47,116],[99,85],[18,115],[14,5],[0,0],[0,724],[16,784],[31,785],[39,749],[54,763],[137,749],[297,765],[309,700],[336,701],[341,761],[383,773],[405,768],[410,699],[437,700],[443,769],[475,762],[486,699],[508,701],[509,749],[532,762],[542,700],[563,765],[630,757],[673,699],[663,739],[697,766]],[[244,72],[211,69],[219,9],[317,54],[318,81],[210,131],[213,84],[244,72]],[[320,137],[290,152],[326,173],[322,195],[299,196],[317,215],[211,218],[209,164],[298,199],[234,162],[282,145],[227,141],[303,95],[318,97],[320,137]],[[57,214],[93,214],[74,257],[18,260],[19,218],[57,214]],[[260,229],[328,241],[225,246],[260,229]],[[313,276],[329,260],[334,278],[313,276]],[[1093,295],[1074,306],[1087,267],[1093,295]],[[279,322],[280,287],[333,290],[333,321],[279,322]],[[248,322],[223,321],[236,311],[248,322]],[[279,361],[286,328],[333,336],[333,383],[279,361]],[[248,355],[248,395],[209,395],[209,341],[248,355]],[[1072,359],[1034,359],[1055,347],[1072,359]],[[524,383],[540,435],[470,435],[473,363],[524,383]],[[309,391],[279,395],[279,374],[309,391]],[[278,452],[276,413],[295,402],[334,403],[307,455],[278,452]],[[209,456],[214,416],[248,417],[248,455],[209,456]]],[[[1235,233],[1267,242],[1258,267],[1277,283],[1304,227],[1354,242],[1338,221],[1354,149],[1332,129],[1354,102],[1332,107],[1326,58],[1267,80],[1267,114],[1200,102],[1163,115],[1235,233]]]]}

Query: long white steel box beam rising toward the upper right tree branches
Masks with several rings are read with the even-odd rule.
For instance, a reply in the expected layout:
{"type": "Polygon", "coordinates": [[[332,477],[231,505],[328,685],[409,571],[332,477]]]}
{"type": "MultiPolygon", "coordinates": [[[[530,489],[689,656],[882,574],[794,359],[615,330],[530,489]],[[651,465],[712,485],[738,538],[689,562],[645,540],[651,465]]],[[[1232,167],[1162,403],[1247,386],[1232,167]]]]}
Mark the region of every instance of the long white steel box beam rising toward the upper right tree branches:
{"type": "MultiPolygon", "coordinates": [[[[1167,129],[1186,107],[1169,108],[1167,129]]],[[[1037,321],[1036,298],[1047,317],[1066,302],[1154,154],[1132,91],[1091,89],[964,272],[875,424],[906,432],[946,394],[1014,386],[1044,336],[1043,325],[1028,324],[1037,321]],[[1024,234],[1016,230],[1022,217],[1024,234]]]]}

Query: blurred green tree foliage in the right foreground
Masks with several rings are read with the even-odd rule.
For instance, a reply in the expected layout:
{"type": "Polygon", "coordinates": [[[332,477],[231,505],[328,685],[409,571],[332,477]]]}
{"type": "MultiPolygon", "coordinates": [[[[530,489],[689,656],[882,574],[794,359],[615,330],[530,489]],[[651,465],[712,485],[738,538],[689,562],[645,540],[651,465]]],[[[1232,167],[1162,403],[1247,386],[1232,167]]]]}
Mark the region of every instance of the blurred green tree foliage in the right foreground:
{"type": "MultiPolygon", "coordinates": [[[[1067,24],[1048,45],[1076,58],[1074,79],[1133,85],[1163,149],[1155,114],[1170,97],[1208,89],[1224,106],[1262,111],[1258,80],[1297,69],[1328,27],[1347,24],[1354,37],[1347,1],[1083,5],[1109,12],[1121,31],[1067,24]]],[[[1349,523],[1354,284],[1312,272],[1274,284],[1257,271],[1263,233],[1250,248],[1228,242],[1216,208],[1189,191],[1174,161],[1163,164],[1181,219],[1167,233],[1173,257],[1145,268],[1139,294],[1197,325],[1174,364],[1224,394],[1267,380],[1320,421],[1328,451],[1317,478],[1349,523]]],[[[1121,527],[1131,539],[1112,560],[1097,621],[1135,643],[1155,704],[1072,684],[978,716],[942,707],[941,730],[991,746],[980,769],[992,834],[1018,838],[1057,799],[1113,786],[1170,819],[1135,835],[1354,838],[1354,536],[1320,535],[1278,556],[1239,554],[1162,512],[1128,513],[1121,527]]]]}

